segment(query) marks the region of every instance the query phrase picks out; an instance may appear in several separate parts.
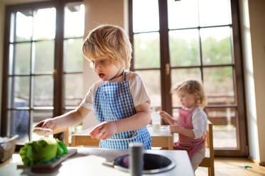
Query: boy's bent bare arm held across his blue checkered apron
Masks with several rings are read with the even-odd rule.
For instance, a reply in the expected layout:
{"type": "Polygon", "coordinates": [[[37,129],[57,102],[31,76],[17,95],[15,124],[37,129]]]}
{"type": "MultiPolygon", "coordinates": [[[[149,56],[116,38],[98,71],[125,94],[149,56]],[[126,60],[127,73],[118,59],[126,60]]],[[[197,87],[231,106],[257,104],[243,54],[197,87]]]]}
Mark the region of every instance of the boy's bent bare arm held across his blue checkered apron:
{"type": "Polygon", "coordinates": [[[133,131],[142,128],[151,121],[150,104],[146,101],[136,106],[136,114],[118,121],[104,121],[90,131],[92,138],[107,139],[121,131],[133,131]]]}

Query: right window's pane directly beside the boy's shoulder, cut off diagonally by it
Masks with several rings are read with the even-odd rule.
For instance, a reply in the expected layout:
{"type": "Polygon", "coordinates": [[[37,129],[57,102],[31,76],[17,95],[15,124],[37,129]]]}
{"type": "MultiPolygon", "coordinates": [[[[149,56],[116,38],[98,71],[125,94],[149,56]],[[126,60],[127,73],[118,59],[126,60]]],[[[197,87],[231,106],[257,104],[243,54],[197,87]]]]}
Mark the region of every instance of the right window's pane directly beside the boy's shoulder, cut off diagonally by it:
{"type": "Polygon", "coordinates": [[[136,71],[146,86],[151,106],[161,106],[161,77],[159,70],[136,71]]]}

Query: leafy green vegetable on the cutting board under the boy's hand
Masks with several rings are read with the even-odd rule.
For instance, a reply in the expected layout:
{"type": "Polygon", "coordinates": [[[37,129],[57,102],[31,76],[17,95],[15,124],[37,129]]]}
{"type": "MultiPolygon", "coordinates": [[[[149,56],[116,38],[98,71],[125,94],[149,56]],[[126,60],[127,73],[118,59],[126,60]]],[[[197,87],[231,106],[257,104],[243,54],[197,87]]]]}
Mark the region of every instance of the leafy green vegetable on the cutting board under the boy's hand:
{"type": "Polygon", "coordinates": [[[31,141],[25,143],[25,146],[19,150],[23,164],[26,166],[38,165],[64,153],[67,153],[65,144],[55,138],[31,141]]]}

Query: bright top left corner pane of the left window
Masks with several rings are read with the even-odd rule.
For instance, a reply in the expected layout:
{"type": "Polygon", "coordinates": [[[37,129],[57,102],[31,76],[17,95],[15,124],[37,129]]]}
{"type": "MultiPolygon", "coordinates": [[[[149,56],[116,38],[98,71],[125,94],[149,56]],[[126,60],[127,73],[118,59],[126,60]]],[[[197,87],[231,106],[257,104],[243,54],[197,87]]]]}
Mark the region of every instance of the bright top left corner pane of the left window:
{"type": "MultiPolygon", "coordinates": [[[[16,13],[16,41],[29,41],[32,37],[33,16],[31,10],[16,13]]],[[[11,33],[11,35],[13,35],[11,33]]],[[[11,41],[13,41],[11,39],[11,41]]]]}

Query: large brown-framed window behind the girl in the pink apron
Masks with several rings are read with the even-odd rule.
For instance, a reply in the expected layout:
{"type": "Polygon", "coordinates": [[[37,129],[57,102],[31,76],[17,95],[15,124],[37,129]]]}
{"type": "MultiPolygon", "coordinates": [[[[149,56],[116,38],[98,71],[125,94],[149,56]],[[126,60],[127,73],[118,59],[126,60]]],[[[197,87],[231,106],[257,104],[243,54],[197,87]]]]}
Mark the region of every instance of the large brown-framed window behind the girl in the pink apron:
{"type": "Polygon", "coordinates": [[[247,155],[237,3],[129,2],[131,70],[143,78],[152,106],[177,117],[180,106],[171,87],[185,79],[201,80],[208,101],[205,112],[214,125],[215,153],[247,155]]]}

